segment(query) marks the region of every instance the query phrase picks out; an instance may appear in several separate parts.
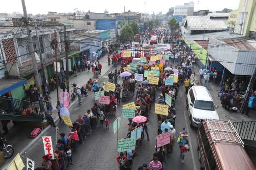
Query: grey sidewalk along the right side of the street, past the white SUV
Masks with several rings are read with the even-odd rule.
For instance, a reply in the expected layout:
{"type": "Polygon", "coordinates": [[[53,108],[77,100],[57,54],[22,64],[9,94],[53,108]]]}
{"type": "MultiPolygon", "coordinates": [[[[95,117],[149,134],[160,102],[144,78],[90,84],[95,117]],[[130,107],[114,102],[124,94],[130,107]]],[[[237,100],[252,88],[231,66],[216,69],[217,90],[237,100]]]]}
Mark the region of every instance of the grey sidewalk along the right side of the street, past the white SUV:
{"type": "MultiPolygon", "coordinates": [[[[192,71],[193,74],[191,75],[191,81],[195,85],[201,85],[201,84],[198,84],[198,82],[200,81],[200,77],[198,75],[199,70],[200,70],[200,68],[198,66],[194,65],[194,68],[192,71]]],[[[218,106],[218,108],[216,110],[217,110],[218,115],[221,120],[225,120],[225,121],[230,120],[231,122],[243,121],[243,120],[244,121],[255,121],[256,120],[256,115],[252,113],[253,110],[250,110],[250,112],[249,112],[250,117],[245,117],[245,116],[241,115],[239,110],[237,112],[232,112],[232,111],[225,110],[222,107],[221,100],[218,97],[218,92],[219,92],[219,88],[220,88],[219,82],[217,82],[217,83],[212,82],[212,81],[207,82],[206,88],[210,92],[210,95],[211,95],[214,103],[218,106]]]]}

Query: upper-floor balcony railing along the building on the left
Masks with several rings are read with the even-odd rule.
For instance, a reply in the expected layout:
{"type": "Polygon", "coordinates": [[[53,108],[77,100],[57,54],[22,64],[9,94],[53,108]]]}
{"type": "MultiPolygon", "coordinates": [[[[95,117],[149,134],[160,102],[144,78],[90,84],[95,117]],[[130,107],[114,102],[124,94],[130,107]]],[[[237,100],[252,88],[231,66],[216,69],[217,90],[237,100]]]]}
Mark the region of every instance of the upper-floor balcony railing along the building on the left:
{"type": "MultiPolygon", "coordinates": [[[[80,44],[70,44],[69,46],[69,53],[73,53],[75,51],[80,50],[80,44]]],[[[57,60],[60,60],[61,58],[65,57],[65,48],[61,48],[57,50],[57,60]]],[[[54,51],[48,51],[44,54],[42,54],[43,64],[47,65],[48,63],[51,63],[55,61],[54,51]]],[[[41,68],[40,62],[37,62],[38,69],[41,68]]],[[[19,71],[22,76],[28,75],[33,72],[33,66],[32,66],[32,60],[27,60],[22,63],[21,66],[19,66],[19,71]]]]}

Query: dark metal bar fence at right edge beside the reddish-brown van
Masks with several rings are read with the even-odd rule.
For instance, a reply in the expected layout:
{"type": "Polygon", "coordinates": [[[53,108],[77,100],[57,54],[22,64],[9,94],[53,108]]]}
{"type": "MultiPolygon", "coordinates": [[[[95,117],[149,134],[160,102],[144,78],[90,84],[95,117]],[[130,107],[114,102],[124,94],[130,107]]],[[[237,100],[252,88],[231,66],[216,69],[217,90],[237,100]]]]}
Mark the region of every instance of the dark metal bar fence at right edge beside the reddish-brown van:
{"type": "Polygon", "coordinates": [[[233,126],[243,140],[256,141],[256,121],[233,122],[233,126]]]}

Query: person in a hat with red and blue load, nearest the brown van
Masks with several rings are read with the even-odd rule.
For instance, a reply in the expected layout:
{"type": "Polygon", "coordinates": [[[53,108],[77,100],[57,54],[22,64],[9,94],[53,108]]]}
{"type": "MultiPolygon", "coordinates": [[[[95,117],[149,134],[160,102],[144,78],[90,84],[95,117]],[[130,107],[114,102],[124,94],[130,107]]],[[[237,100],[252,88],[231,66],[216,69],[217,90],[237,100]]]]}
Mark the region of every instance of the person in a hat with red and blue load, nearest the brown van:
{"type": "Polygon", "coordinates": [[[177,143],[180,147],[182,163],[184,163],[185,152],[189,151],[188,130],[186,128],[182,129],[182,133],[178,137],[177,143]]]}

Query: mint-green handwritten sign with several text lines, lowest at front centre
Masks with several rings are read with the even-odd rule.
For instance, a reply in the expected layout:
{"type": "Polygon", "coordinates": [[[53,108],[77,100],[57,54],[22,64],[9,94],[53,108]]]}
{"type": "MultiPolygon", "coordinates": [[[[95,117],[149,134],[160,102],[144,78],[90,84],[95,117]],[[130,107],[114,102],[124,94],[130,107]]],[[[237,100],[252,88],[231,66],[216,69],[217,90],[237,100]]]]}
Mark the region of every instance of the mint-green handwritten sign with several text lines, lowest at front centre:
{"type": "Polygon", "coordinates": [[[135,150],[136,140],[134,138],[120,139],[117,141],[117,152],[135,150]]]}

